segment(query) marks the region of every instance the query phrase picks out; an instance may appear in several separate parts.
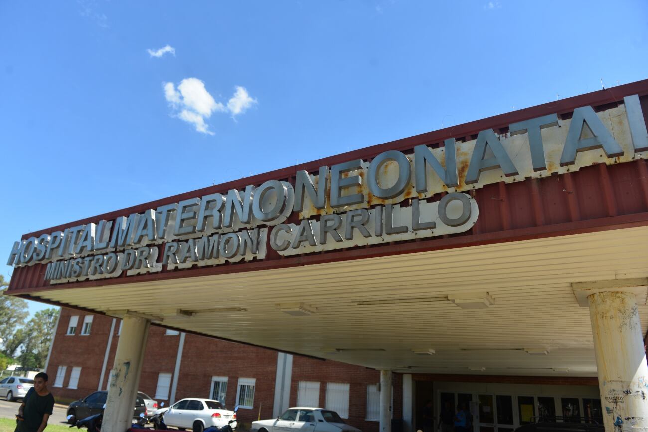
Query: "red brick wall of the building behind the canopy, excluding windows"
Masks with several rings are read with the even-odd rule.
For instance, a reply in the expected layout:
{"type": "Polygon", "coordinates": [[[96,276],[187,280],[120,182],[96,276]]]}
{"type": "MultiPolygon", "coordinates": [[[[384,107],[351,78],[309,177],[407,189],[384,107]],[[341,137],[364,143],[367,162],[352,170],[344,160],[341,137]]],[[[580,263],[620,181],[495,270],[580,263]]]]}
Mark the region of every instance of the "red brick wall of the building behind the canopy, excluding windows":
{"type": "MultiPolygon", "coordinates": [[[[67,372],[64,387],[52,387],[52,392],[59,398],[81,398],[97,390],[104,361],[110,326],[110,317],[95,315],[89,336],[81,336],[80,330],[84,313],[63,309],[52,355],[47,368],[51,385],[56,378],[59,365],[66,365],[67,372]],[[76,335],[67,336],[67,326],[71,315],[79,315],[76,335]],[[82,367],[78,389],[68,389],[70,371],[73,366],[82,367]]],[[[115,320],[113,339],[102,389],[106,389],[110,380],[110,370],[115,361],[117,343],[119,343],[120,320],[115,320]]],[[[156,398],[157,378],[160,372],[173,374],[178,355],[179,335],[165,335],[166,330],[151,326],[146,343],[144,363],[139,381],[139,390],[156,398]]],[[[274,404],[275,374],[277,369],[277,352],[264,348],[250,347],[209,337],[187,334],[181,361],[176,400],[186,397],[211,397],[212,376],[227,376],[226,405],[233,407],[236,402],[238,378],[255,378],[254,407],[240,409],[238,418],[249,423],[257,418],[272,418],[274,404]]],[[[380,372],[364,367],[347,365],[338,361],[321,361],[301,356],[294,356],[290,404],[297,403],[297,383],[302,381],[319,381],[319,404],[326,402],[326,383],[340,382],[350,384],[349,423],[366,432],[378,430],[378,422],[365,420],[367,404],[367,384],[380,381],[380,372]]],[[[401,416],[402,377],[394,374],[394,417],[401,416]]],[[[169,400],[156,398],[158,402],[169,404],[169,400]]]]}

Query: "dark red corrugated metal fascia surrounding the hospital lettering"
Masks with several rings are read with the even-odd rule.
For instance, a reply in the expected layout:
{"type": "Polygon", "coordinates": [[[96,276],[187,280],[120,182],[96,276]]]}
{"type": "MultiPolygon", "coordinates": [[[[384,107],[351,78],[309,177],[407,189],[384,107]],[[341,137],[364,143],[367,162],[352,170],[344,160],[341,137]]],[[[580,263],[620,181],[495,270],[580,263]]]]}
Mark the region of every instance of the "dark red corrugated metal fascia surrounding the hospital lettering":
{"type": "MultiPolygon", "coordinates": [[[[226,192],[231,188],[242,189],[246,185],[260,185],[268,179],[292,180],[297,170],[316,171],[321,165],[334,165],[351,159],[362,158],[371,161],[373,157],[386,150],[408,151],[418,144],[438,146],[448,137],[470,137],[485,128],[507,131],[511,122],[530,119],[548,113],[559,113],[570,117],[574,108],[591,105],[594,108],[609,108],[623,99],[625,95],[638,94],[643,107],[644,117],[648,114],[648,80],[621,85],[614,92],[602,90],[578,97],[568,98],[521,109],[511,113],[476,120],[452,128],[424,133],[398,141],[387,142],[378,146],[345,153],[311,163],[292,166],[259,176],[240,179],[223,185],[204,188],[172,196],[151,203],[145,203],[129,209],[117,210],[86,220],[61,225],[30,233],[38,236],[50,233],[56,229],[64,229],[80,223],[95,222],[101,219],[111,220],[117,216],[126,216],[132,212],[142,212],[156,208],[159,205],[177,202],[181,199],[200,197],[205,194],[226,192]]],[[[303,256],[282,258],[269,250],[264,260],[238,262],[227,266],[200,267],[191,269],[163,269],[159,273],[148,273],[125,278],[101,280],[86,280],[70,284],[57,284],[56,288],[76,288],[137,282],[143,280],[159,280],[177,277],[194,277],[218,273],[259,270],[276,267],[301,266],[319,262],[332,262],[370,256],[392,255],[397,253],[412,253],[432,249],[444,249],[465,245],[485,244],[489,242],[505,242],[524,240],[561,234],[583,233],[648,225],[648,167],[646,161],[638,159],[631,163],[619,163],[606,166],[603,164],[582,168],[560,176],[542,179],[526,179],[518,183],[498,183],[486,185],[477,190],[471,190],[480,207],[480,217],[472,229],[465,233],[452,234],[443,238],[420,239],[415,242],[399,242],[395,245],[373,245],[371,247],[349,248],[343,251],[327,253],[312,253],[303,256]]],[[[440,199],[435,196],[433,199],[440,199]]],[[[402,203],[406,205],[406,203],[402,203]]],[[[296,216],[293,215],[292,218],[296,216]]],[[[27,238],[27,234],[24,238],[27,238]]],[[[43,290],[44,264],[18,267],[14,271],[9,292],[29,297],[30,291],[43,290]]]]}

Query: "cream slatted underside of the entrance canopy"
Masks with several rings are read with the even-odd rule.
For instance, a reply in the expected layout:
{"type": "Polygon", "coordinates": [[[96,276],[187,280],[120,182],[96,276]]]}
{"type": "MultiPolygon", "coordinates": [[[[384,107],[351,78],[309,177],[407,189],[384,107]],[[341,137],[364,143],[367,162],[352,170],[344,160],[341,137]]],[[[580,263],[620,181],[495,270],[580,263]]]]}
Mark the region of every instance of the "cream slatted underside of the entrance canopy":
{"type": "MultiPolygon", "coordinates": [[[[648,227],[613,229],[30,297],[376,369],[594,376],[589,310],[571,283],[648,277],[646,238],[648,227]],[[494,305],[446,299],[477,292],[494,305]],[[281,310],[295,304],[314,313],[281,310]]],[[[645,332],[648,306],[639,311],[645,332]]]]}

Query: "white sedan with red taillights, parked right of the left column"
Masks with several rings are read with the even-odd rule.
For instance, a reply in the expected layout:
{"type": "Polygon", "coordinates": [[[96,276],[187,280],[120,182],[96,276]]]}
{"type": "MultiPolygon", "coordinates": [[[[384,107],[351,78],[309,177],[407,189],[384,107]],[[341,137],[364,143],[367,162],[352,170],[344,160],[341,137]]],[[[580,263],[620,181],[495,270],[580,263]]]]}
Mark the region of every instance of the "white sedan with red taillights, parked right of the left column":
{"type": "MultiPolygon", "coordinates": [[[[236,420],[236,418],[235,411],[226,409],[217,400],[185,398],[168,407],[164,422],[168,426],[191,428],[194,432],[202,432],[205,427],[223,427],[229,423],[229,420],[236,420]]],[[[237,422],[229,426],[236,429],[237,422]]]]}

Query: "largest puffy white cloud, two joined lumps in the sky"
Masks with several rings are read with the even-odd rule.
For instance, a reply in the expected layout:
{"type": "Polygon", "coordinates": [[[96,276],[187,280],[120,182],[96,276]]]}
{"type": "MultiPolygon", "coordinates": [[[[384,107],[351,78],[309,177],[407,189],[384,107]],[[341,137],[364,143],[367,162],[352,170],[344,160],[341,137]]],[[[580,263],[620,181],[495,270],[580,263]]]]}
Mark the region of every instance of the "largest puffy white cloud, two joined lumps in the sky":
{"type": "Polygon", "coordinates": [[[229,112],[235,116],[257,103],[245,87],[240,85],[235,87],[235,93],[227,101],[227,106],[216,102],[205,88],[205,83],[198,78],[185,78],[178,84],[177,89],[172,82],[165,82],[163,85],[165,98],[177,112],[178,118],[193,124],[197,131],[210,135],[214,133],[209,130],[205,119],[209,119],[213,113],[229,112]]]}

